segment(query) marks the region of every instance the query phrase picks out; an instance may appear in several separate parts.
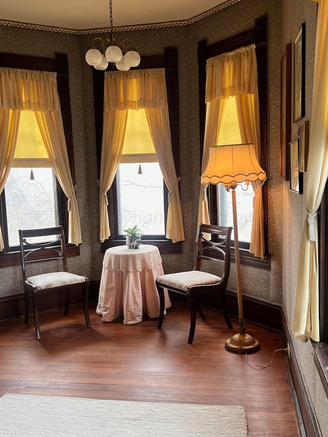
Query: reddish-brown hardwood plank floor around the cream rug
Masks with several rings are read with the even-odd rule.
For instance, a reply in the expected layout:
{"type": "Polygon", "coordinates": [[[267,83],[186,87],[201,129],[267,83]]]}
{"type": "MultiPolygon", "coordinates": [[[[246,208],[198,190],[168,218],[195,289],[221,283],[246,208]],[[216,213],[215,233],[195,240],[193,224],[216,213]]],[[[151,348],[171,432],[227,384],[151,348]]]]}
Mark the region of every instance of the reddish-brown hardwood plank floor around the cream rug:
{"type": "MultiPolygon", "coordinates": [[[[83,309],[40,314],[41,340],[33,319],[0,322],[0,396],[46,394],[97,399],[242,405],[249,437],[297,437],[296,415],[286,376],[285,351],[270,367],[253,370],[244,355],[228,352],[225,341],[237,330],[221,314],[204,310],[197,319],[194,343],[187,343],[189,309],[173,303],[161,330],[157,320],[126,326],[122,319],[105,324],[90,304],[91,328],[83,309]]],[[[247,324],[261,344],[250,361],[267,365],[279,337],[247,324]]],[[[191,434],[192,435],[192,434],[191,434]]],[[[206,437],[206,436],[204,436],[206,437]]]]}

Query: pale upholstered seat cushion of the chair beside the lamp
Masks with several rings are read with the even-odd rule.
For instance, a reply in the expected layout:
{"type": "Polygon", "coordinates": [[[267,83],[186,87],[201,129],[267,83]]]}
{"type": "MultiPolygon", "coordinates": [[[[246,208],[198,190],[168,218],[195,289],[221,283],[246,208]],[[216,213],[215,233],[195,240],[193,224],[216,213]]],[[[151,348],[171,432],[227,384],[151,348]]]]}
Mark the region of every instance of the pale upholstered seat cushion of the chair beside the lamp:
{"type": "Polygon", "coordinates": [[[157,281],[161,284],[171,285],[176,288],[188,290],[195,285],[211,285],[221,281],[221,278],[207,272],[191,270],[190,272],[169,273],[168,275],[159,276],[157,281]]]}

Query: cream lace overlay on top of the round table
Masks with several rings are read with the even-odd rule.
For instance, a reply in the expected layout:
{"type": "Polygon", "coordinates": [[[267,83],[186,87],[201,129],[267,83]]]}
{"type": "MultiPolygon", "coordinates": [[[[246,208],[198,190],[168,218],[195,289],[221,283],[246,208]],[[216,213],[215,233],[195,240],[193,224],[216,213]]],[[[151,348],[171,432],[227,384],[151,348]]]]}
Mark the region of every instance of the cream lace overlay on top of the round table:
{"type": "Polygon", "coordinates": [[[143,268],[153,270],[162,263],[158,247],[141,244],[138,249],[129,249],[126,245],[107,249],[103,267],[121,272],[141,272],[143,268]]]}

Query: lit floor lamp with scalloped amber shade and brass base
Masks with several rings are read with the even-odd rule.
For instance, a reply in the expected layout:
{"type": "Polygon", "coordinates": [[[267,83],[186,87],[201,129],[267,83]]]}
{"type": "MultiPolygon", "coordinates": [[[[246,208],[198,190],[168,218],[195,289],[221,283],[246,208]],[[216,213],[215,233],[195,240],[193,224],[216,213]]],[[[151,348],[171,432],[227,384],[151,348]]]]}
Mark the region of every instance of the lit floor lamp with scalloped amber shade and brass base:
{"type": "Polygon", "coordinates": [[[245,183],[245,190],[250,182],[266,179],[265,172],[261,169],[256,158],[254,144],[216,145],[210,147],[209,162],[201,175],[202,182],[209,184],[222,183],[224,188],[232,194],[232,210],[234,222],[235,261],[238,298],[238,334],[226,342],[226,349],[232,352],[256,352],[260,343],[249,334],[246,334],[240,277],[240,257],[237,224],[236,188],[245,183]]]}

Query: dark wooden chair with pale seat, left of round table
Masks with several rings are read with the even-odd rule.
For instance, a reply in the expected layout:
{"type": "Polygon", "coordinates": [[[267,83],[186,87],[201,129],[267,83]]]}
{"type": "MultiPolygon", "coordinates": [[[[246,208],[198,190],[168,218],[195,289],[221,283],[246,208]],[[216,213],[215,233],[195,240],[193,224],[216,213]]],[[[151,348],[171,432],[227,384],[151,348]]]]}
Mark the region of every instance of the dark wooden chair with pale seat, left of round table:
{"type": "MultiPolygon", "coordinates": [[[[18,234],[25,294],[25,323],[28,323],[29,321],[29,297],[31,294],[33,297],[36,338],[38,340],[41,338],[37,297],[38,295],[45,293],[55,293],[66,290],[64,315],[67,316],[70,306],[70,290],[72,288],[83,287],[84,315],[87,327],[89,328],[89,279],[85,276],[74,275],[67,271],[66,245],[63,226],[46,229],[19,230],[18,234]],[[28,241],[28,239],[30,240],[28,241]],[[59,261],[60,264],[59,272],[44,273],[34,276],[27,275],[27,264],[44,263],[46,261],[56,260],[59,261]]],[[[39,265],[39,269],[42,269],[42,264],[39,265]]]]}

